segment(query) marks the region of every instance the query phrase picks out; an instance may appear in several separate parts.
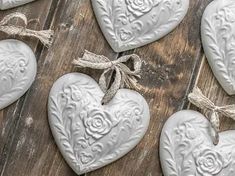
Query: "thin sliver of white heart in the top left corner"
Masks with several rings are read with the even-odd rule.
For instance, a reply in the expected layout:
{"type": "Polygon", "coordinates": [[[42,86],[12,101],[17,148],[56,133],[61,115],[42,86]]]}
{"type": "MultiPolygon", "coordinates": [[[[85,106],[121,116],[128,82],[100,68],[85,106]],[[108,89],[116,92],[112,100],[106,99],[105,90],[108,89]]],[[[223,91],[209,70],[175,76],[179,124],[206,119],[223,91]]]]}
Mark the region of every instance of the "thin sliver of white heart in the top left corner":
{"type": "Polygon", "coordinates": [[[34,0],[0,0],[0,9],[6,10],[32,1],[34,0]]]}

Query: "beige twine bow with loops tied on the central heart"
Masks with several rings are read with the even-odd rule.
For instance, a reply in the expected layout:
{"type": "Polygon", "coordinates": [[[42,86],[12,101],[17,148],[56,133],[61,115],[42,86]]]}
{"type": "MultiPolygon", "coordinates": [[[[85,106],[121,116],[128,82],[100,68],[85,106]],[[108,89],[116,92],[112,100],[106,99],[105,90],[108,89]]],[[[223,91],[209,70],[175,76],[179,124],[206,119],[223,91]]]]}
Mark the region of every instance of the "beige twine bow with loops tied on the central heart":
{"type": "Polygon", "coordinates": [[[122,56],[115,61],[110,61],[105,56],[85,51],[83,57],[74,60],[73,64],[81,68],[104,70],[99,79],[100,88],[105,93],[102,104],[107,104],[115,96],[117,91],[124,86],[131,89],[138,89],[137,78],[140,78],[142,61],[136,54],[122,56]],[[131,61],[133,64],[133,70],[125,65],[128,61],[131,61]],[[113,72],[115,73],[114,81],[109,86],[107,78],[113,72]]]}

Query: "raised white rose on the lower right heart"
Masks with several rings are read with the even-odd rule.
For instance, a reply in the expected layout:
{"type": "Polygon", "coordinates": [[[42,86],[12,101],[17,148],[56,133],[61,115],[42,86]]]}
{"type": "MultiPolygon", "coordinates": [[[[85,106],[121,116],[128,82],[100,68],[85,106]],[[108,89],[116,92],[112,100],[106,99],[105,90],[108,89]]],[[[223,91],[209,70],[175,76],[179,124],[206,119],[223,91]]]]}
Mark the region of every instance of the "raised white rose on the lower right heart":
{"type": "Polygon", "coordinates": [[[197,171],[201,175],[213,176],[223,169],[224,161],[220,153],[204,149],[196,158],[197,171]]]}

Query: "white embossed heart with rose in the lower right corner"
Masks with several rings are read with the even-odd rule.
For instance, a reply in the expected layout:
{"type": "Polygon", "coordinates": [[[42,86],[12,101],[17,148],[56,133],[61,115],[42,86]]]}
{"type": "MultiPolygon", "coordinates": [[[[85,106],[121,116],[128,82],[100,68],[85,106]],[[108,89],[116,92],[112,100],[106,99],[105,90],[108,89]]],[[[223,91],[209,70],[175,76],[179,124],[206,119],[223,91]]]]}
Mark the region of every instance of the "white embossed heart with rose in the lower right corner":
{"type": "Polygon", "coordinates": [[[235,131],[212,142],[209,121],[191,110],[172,115],[163,127],[160,159],[164,176],[234,176],[235,131]]]}

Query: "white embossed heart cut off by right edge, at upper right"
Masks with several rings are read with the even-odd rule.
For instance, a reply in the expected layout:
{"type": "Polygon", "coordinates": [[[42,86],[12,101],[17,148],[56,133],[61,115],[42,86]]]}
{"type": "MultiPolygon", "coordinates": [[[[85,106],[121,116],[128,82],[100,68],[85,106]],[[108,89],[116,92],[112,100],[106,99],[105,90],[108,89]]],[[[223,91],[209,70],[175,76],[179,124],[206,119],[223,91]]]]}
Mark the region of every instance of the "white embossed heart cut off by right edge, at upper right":
{"type": "Polygon", "coordinates": [[[228,94],[235,94],[235,1],[212,1],[203,14],[201,34],[214,75],[228,94]]]}

